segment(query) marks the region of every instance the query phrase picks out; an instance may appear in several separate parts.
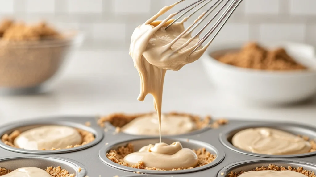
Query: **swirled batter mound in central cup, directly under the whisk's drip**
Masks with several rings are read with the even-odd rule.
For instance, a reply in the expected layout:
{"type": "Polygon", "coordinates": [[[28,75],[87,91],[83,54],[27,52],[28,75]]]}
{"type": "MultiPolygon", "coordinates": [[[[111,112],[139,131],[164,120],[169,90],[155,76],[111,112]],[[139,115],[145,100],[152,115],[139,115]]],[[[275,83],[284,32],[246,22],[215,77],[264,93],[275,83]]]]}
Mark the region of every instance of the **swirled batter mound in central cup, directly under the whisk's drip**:
{"type": "Polygon", "coordinates": [[[124,162],[135,165],[143,161],[145,167],[172,170],[177,168],[196,167],[197,155],[193,150],[182,148],[180,142],[171,145],[156,143],[142,147],[138,152],[133,152],[124,157],[124,162]]]}

